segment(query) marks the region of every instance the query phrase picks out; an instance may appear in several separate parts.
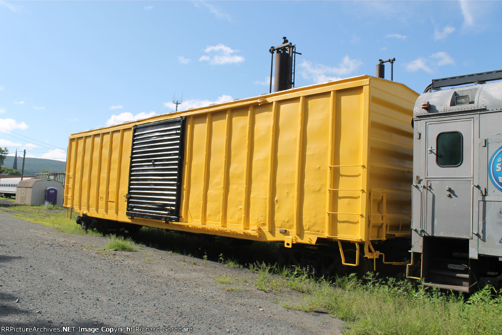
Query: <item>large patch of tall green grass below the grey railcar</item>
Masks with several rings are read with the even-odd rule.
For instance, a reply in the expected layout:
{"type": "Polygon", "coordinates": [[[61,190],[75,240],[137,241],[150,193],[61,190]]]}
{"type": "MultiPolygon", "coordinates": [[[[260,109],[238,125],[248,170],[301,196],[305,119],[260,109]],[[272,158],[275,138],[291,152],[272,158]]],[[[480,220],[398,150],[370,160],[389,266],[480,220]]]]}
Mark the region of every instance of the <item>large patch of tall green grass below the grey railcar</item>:
{"type": "Polygon", "coordinates": [[[334,283],[310,280],[299,287],[308,292],[303,302],[284,307],[328,312],[347,321],[347,334],[499,334],[502,329],[502,292],[490,287],[468,299],[373,275],[364,280],[341,277],[334,283]]]}

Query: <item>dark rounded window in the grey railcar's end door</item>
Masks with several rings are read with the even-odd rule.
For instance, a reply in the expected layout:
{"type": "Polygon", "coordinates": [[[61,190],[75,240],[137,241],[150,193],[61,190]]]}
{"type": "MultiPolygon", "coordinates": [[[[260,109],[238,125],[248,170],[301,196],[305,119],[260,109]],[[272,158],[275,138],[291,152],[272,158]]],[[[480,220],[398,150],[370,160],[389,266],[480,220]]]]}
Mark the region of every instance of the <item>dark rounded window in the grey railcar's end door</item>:
{"type": "Polygon", "coordinates": [[[440,133],[436,138],[436,163],[441,167],[462,164],[463,138],[459,132],[440,133]]]}

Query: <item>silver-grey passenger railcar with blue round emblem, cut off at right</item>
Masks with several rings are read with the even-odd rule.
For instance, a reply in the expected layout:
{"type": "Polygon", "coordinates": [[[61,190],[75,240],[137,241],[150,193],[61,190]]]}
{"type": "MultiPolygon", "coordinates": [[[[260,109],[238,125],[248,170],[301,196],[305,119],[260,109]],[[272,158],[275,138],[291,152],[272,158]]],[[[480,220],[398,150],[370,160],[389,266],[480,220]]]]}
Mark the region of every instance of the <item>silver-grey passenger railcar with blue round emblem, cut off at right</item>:
{"type": "Polygon", "coordinates": [[[485,83],[496,79],[502,70],[435,79],[415,104],[411,251],[419,269],[408,266],[408,276],[426,285],[469,292],[500,280],[502,82],[485,83]]]}

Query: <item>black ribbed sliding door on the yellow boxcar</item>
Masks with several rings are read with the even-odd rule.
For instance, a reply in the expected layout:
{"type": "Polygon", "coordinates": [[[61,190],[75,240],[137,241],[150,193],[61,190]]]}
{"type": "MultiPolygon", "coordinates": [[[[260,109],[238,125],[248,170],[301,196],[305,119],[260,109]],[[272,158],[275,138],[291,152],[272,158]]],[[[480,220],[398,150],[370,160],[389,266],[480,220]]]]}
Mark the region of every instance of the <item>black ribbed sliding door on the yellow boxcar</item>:
{"type": "Polygon", "coordinates": [[[185,118],[134,128],[128,216],[179,220],[184,128],[185,118]]]}

